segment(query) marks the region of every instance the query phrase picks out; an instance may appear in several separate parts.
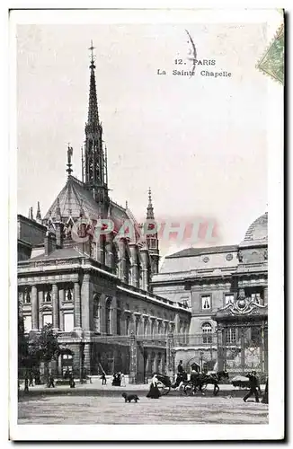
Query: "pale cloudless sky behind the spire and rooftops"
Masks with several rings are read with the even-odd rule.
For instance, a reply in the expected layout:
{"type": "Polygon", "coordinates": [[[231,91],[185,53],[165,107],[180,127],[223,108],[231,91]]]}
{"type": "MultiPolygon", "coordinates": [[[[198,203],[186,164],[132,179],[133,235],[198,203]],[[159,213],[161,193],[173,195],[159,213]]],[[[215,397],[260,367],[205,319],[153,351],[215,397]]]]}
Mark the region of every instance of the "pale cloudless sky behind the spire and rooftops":
{"type": "MultiPolygon", "coordinates": [[[[159,220],[212,218],[213,244],[241,242],[268,203],[267,78],[255,68],[267,45],[262,23],[19,25],[18,213],[40,201],[46,214],[67,180],[68,143],[81,179],[91,40],[111,198],[128,200],[141,221],[151,187],[159,220]],[[216,61],[191,77],[172,75],[191,69],[185,30],[197,58],[216,61]]],[[[164,254],[187,246],[161,242],[164,254]]]]}

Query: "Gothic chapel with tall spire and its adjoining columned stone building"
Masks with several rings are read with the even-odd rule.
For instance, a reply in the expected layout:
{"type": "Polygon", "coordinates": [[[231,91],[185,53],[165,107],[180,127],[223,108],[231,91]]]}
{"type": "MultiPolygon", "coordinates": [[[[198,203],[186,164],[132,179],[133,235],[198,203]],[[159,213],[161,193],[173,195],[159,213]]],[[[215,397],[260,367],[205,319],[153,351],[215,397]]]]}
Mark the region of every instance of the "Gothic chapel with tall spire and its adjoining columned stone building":
{"type": "MultiPolygon", "coordinates": [[[[38,332],[51,323],[68,350],[53,366],[75,375],[122,371],[144,382],[156,370],[173,370],[171,334],[189,332],[191,313],[180,301],[155,295],[157,234],[145,234],[129,207],[109,197],[107,154],[99,119],[95,66],[90,66],[88,119],[82,180],[72,176],[42,218],[18,216],[18,295],[25,329],[38,332]],[[101,233],[100,220],[113,223],[101,233]],[[116,238],[129,223],[134,235],[116,238]],[[96,236],[95,230],[99,227],[96,236]],[[169,348],[169,349],[168,349],[169,348]]],[[[147,220],[154,220],[149,191],[147,220]]],[[[150,228],[152,229],[152,228],[150,228]]]]}

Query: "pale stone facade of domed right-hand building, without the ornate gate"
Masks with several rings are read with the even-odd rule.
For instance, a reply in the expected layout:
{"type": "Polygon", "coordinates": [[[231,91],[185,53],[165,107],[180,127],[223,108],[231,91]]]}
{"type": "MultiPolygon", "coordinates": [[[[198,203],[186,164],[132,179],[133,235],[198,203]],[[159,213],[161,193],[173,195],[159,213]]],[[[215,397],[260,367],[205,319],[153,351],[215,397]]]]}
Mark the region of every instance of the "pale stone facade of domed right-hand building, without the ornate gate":
{"type": "MultiPolygon", "coordinates": [[[[170,255],[152,277],[156,295],[181,301],[191,311],[188,341],[181,336],[175,341],[176,363],[182,359],[185,366],[195,362],[217,367],[220,322],[215,314],[236,304],[239,295],[260,306],[268,304],[267,223],[268,215],[260,216],[238,245],[190,248],[170,255]]],[[[250,313],[247,317],[249,321],[250,313]]],[[[241,322],[235,315],[233,326],[240,327],[241,322]]],[[[259,324],[263,329],[267,326],[265,315],[259,324]]],[[[238,339],[238,331],[231,332],[238,339]]]]}

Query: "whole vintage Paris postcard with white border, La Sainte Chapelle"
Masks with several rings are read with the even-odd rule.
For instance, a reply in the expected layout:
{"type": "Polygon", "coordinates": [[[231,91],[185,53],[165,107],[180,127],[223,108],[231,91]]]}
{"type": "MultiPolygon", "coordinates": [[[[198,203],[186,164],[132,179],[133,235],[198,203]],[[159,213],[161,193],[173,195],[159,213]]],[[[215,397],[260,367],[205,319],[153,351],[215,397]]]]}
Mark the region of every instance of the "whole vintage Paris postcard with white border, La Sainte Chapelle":
{"type": "Polygon", "coordinates": [[[12,11],[11,439],[284,437],[284,33],[12,11]]]}

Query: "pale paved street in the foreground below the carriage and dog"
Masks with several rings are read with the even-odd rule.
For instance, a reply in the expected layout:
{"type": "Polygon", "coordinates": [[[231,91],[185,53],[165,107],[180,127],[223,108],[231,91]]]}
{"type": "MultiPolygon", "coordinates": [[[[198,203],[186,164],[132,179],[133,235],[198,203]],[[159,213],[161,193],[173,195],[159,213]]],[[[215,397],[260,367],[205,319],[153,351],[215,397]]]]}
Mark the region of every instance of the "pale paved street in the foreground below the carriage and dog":
{"type": "Polygon", "coordinates": [[[268,405],[227,397],[42,396],[19,402],[19,424],[267,424],[268,405]]]}

